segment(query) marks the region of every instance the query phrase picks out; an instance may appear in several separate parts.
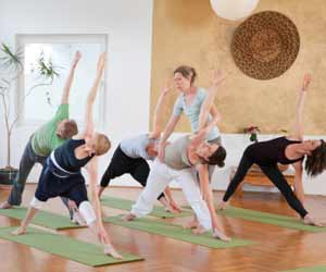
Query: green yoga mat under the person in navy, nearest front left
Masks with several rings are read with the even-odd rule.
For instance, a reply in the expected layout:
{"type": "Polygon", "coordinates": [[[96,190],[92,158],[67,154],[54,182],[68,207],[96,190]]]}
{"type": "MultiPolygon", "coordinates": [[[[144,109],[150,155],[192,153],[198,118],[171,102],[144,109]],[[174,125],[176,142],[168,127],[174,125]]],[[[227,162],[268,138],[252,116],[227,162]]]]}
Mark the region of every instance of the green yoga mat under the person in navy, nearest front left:
{"type": "Polygon", "coordinates": [[[0,238],[24,244],[90,267],[142,260],[138,256],[126,252],[120,252],[123,259],[114,259],[105,256],[100,245],[88,244],[65,235],[28,227],[25,235],[14,236],[11,235],[11,232],[14,230],[16,230],[15,226],[0,227],[0,238]]]}

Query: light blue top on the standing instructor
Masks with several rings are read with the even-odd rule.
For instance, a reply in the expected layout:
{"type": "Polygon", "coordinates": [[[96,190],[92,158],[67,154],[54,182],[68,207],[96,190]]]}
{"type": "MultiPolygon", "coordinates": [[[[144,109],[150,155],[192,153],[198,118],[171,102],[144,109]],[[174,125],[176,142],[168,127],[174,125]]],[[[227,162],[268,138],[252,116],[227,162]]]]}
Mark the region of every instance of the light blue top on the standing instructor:
{"type": "MultiPolygon", "coordinates": [[[[186,116],[189,119],[191,124],[191,132],[196,133],[198,131],[199,126],[199,113],[200,108],[206,97],[206,90],[204,88],[198,87],[197,95],[190,106],[186,106],[186,98],[185,94],[181,94],[175,104],[173,114],[175,116],[180,116],[183,112],[185,112],[186,116]]],[[[212,115],[209,115],[209,121],[212,120],[212,115]]],[[[214,126],[212,131],[208,134],[206,139],[213,140],[216,139],[220,136],[220,129],[217,126],[214,126]]]]}

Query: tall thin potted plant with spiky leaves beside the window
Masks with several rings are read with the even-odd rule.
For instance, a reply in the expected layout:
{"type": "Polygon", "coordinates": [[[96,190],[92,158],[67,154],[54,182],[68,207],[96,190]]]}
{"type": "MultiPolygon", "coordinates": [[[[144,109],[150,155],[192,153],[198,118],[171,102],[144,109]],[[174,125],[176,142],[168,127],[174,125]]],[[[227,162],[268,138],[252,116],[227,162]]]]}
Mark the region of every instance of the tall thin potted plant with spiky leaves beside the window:
{"type": "MultiPolygon", "coordinates": [[[[7,140],[7,165],[0,169],[0,184],[10,185],[14,181],[17,170],[11,165],[11,136],[15,124],[22,113],[22,107],[12,112],[11,97],[15,91],[15,85],[18,78],[24,74],[23,52],[22,50],[13,51],[8,45],[1,44],[0,47],[0,100],[3,109],[3,121],[7,140]]],[[[43,53],[40,53],[36,60],[36,66],[30,71],[35,75],[35,84],[27,90],[22,101],[32,94],[37,87],[52,85],[54,77],[59,73],[50,61],[46,61],[43,53]]]]}

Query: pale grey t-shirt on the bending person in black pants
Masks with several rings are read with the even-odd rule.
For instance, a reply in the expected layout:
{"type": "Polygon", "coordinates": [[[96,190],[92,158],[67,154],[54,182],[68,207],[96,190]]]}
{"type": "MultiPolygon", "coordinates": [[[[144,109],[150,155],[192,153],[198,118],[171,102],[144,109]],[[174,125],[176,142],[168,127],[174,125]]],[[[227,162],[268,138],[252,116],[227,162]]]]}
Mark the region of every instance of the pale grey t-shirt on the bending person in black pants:
{"type": "Polygon", "coordinates": [[[148,138],[148,134],[141,134],[135,136],[133,138],[124,139],[120,143],[120,148],[123,152],[134,159],[142,158],[145,160],[153,161],[155,157],[150,157],[147,151],[146,147],[150,141],[155,141],[153,139],[148,138]]]}

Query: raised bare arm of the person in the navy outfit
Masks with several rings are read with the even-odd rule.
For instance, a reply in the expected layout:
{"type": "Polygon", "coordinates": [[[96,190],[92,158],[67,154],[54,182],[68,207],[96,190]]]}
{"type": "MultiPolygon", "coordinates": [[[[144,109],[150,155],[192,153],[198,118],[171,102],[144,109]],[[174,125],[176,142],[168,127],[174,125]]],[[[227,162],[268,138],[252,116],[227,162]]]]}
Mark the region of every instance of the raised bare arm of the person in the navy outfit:
{"type": "Polygon", "coordinates": [[[87,101],[86,101],[86,115],[85,115],[85,123],[86,128],[84,132],[84,136],[91,136],[93,134],[93,118],[92,118],[92,108],[97,97],[98,88],[102,78],[102,74],[105,66],[105,53],[101,53],[98,60],[98,70],[96,79],[93,85],[88,94],[87,101]]]}

